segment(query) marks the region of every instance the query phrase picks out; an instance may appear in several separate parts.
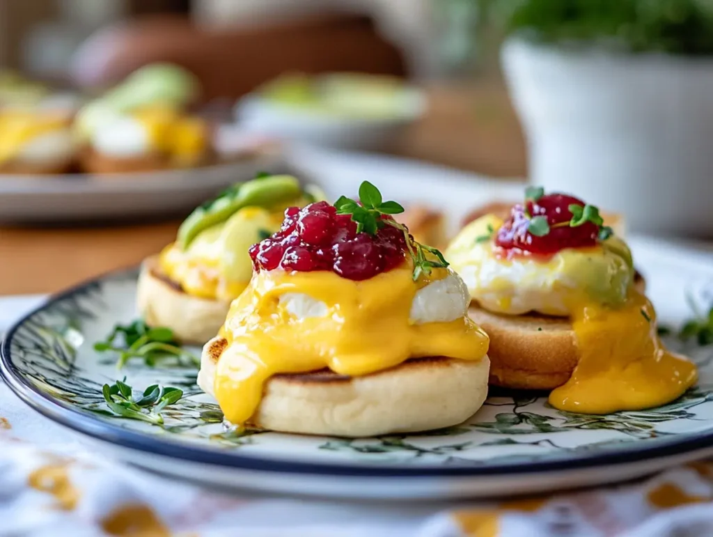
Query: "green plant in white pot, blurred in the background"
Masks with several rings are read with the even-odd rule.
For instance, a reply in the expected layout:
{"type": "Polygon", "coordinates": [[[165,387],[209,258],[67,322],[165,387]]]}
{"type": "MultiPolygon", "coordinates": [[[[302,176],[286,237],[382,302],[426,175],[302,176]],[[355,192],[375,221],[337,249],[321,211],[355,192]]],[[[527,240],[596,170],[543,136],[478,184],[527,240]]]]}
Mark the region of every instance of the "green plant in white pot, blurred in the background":
{"type": "Polygon", "coordinates": [[[713,235],[712,4],[509,2],[501,58],[533,183],[635,231],[713,235]]]}

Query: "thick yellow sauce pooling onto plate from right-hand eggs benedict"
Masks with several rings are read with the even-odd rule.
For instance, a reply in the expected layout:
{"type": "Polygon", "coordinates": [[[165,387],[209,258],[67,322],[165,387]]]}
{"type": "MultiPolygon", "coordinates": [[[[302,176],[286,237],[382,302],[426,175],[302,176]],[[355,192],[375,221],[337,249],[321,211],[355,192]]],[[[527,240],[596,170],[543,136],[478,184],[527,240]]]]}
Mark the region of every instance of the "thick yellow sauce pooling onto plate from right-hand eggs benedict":
{"type": "Polygon", "coordinates": [[[665,349],[654,308],[639,292],[616,310],[586,305],[572,311],[580,357],[568,382],[550,393],[555,408],[583,414],[647,409],[695,384],[696,366],[665,349]]]}

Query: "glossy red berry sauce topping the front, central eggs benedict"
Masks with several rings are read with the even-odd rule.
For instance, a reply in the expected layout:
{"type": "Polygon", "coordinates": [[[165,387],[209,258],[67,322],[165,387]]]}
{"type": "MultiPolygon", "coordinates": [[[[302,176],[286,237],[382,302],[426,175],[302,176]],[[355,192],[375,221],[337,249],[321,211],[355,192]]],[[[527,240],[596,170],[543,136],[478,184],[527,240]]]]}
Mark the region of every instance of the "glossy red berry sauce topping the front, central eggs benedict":
{"type": "Polygon", "coordinates": [[[250,248],[255,270],[333,270],[349,280],[367,280],[401,264],[406,238],[386,225],[376,235],[357,233],[350,215],[337,215],[325,201],[284,211],[282,228],[250,248]]]}

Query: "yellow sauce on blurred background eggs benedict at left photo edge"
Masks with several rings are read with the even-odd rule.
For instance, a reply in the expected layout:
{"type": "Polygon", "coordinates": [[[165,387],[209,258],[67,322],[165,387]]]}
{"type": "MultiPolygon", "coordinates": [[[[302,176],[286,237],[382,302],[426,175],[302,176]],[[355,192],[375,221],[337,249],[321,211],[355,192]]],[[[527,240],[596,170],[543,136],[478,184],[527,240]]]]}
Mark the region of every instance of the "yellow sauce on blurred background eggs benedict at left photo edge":
{"type": "Polygon", "coordinates": [[[12,160],[35,138],[68,128],[68,120],[59,114],[3,111],[0,113],[0,163],[12,160]]]}

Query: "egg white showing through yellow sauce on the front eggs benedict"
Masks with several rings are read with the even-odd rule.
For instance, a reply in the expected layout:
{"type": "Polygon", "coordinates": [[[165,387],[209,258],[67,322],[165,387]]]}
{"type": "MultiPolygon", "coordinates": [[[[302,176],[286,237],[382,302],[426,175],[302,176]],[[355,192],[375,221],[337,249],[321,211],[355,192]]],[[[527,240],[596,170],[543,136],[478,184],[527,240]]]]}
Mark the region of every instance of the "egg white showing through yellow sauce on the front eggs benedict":
{"type": "MultiPolygon", "coordinates": [[[[465,283],[455,272],[450,272],[442,280],[431,282],[416,292],[411,302],[409,322],[451,322],[466,314],[470,302],[465,283]]],[[[329,314],[329,308],[324,302],[305,293],[285,293],[279,297],[279,304],[297,319],[326,317],[329,314]]]]}

